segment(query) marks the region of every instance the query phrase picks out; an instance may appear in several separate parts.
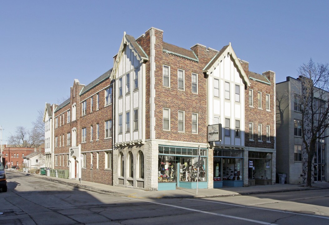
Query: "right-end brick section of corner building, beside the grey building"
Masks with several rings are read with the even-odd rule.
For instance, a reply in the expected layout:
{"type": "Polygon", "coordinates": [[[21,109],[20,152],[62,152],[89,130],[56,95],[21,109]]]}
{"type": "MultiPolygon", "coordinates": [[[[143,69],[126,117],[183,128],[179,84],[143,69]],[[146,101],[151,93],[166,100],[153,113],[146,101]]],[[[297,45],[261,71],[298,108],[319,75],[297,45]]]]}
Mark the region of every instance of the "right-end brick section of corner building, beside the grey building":
{"type": "Polygon", "coordinates": [[[250,81],[245,90],[244,185],[275,184],[275,72],[258,74],[249,71],[248,62],[240,64],[250,81]]]}

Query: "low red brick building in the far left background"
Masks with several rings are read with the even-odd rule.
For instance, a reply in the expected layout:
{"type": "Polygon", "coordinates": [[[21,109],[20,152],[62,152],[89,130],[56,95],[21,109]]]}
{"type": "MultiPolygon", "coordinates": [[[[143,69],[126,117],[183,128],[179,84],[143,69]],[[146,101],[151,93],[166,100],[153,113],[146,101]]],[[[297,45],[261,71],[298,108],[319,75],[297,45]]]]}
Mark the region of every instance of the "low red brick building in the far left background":
{"type": "Polygon", "coordinates": [[[3,161],[6,165],[8,165],[8,162],[10,162],[9,167],[19,166],[19,168],[23,168],[24,156],[36,151],[40,151],[44,154],[44,148],[11,147],[10,145],[4,146],[5,147],[2,149],[2,158],[5,158],[3,161]]]}

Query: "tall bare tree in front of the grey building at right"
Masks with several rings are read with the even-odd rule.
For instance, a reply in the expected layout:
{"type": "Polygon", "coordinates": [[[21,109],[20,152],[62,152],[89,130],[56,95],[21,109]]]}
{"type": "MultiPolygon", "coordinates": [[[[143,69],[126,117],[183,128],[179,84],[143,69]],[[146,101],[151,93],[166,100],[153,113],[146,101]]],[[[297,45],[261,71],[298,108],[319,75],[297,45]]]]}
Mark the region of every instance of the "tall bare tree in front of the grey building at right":
{"type": "Polygon", "coordinates": [[[297,71],[298,79],[301,81],[298,98],[301,101],[302,113],[303,180],[311,187],[314,182],[313,168],[317,141],[322,142],[321,140],[329,136],[325,132],[329,127],[329,68],[328,64],[315,64],[310,59],[297,71]]]}

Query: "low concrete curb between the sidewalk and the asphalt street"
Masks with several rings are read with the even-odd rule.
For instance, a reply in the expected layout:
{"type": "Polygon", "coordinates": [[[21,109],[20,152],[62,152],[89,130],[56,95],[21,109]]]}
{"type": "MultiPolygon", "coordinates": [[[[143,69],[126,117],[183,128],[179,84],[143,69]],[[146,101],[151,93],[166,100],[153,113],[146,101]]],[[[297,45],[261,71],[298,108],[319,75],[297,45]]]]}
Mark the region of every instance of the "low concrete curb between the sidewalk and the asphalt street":
{"type": "MultiPolygon", "coordinates": [[[[54,182],[54,183],[61,183],[61,184],[65,184],[65,185],[69,185],[69,186],[73,186],[73,187],[77,187],[77,188],[81,188],[84,190],[88,190],[88,191],[93,191],[96,193],[100,193],[100,194],[115,194],[118,196],[126,196],[126,194],[122,194],[120,192],[115,192],[115,191],[110,191],[110,190],[103,190],[103,189],[99,189],[99,188],[94,188],[88,185],[84,185],[84,184],[78,184],[78,183],[70,183],[70,182],[65,182],[62,180],[56,180],[56,179],[52,179],[51,177],[42,177],[42,175],[38,175],[38,174],[30,174],[30,173],[24,173],[24,172],[20,172],[20,171],[13,171],[15,173],[20,173],[22,175],[29,175],[29,176],[33,176],[35,178],[39,178],[39,179],[43,179],[46,181],[50,181],[50,182],[54,182]]],[[[293,188],[293,189],[281,189],[281,190],[268,190],[268,191],[248,191],[248,192],[234,192],[234,193],[228,193],[228,194],[210,194],[210,195],[195,195],[195,196],[191,196],[191,195],[163,195],[163,196],[159,196],[159,197],[140,197],[140,198],[150,198],[150,199],[159,199],[159,198],[219,198],[219,197],[232,197],[232,196],[246,196],[246,195],[254,195],[254,194],[269,194],[269,193],[283,193],[283,192],[292,192],[292,191],[310,191],[310,190],[323,190],[323,189],[329,189],[329,187],[305,187],[305,188],[293,188]]]]}

